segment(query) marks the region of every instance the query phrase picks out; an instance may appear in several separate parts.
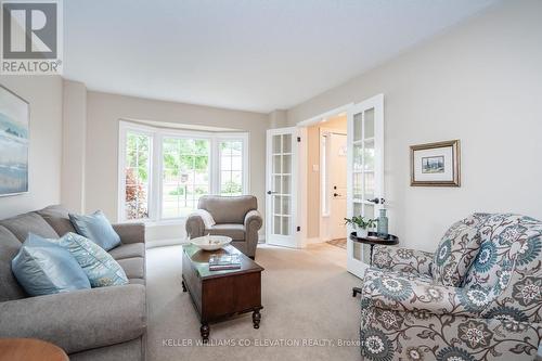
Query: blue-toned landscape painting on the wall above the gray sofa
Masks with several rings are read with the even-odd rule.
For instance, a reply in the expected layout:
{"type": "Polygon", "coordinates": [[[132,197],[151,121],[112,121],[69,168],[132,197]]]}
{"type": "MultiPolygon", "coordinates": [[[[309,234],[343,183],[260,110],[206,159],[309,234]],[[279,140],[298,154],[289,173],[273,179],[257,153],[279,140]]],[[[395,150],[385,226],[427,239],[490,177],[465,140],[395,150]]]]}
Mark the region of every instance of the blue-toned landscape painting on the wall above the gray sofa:
{"type": "Polygon", "coordinates": [[[0,86],[0,196],[28,192],[29,105],[0,86]]]}

